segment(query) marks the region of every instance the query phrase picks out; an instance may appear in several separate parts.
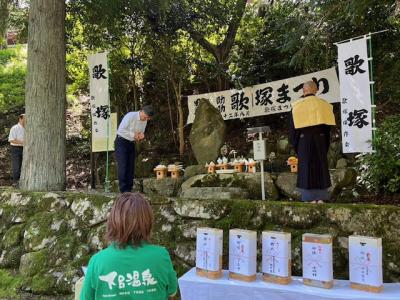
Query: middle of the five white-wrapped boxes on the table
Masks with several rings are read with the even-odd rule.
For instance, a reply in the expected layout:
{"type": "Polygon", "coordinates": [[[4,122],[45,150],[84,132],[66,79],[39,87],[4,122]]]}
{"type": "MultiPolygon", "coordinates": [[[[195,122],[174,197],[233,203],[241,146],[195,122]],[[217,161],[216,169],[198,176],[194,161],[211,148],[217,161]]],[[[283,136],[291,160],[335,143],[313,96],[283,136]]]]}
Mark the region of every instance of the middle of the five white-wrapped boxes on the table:
{"type": "Polygon", "coordinates": [[[262,272],[266,282],[289,284],[292,281],[290,233],[262,233],[262,272]]]}

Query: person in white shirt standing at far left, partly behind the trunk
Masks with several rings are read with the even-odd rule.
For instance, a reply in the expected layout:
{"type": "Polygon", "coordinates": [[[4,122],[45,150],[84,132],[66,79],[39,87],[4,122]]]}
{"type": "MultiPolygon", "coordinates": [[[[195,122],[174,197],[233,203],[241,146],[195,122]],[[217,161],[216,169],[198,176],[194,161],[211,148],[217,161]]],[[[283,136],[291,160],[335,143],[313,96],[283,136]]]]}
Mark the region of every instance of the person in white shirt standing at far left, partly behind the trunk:
{"type": "Polygon", "coordinates": [[[24,149],[24,134],[25,134],[25,114],[18,118],[18,124],[14,125],[8,136],[8,142],[11,145],[11,162],[13,169],[13,184],[18,185],[21,175],[22,152],[24,149]]]}

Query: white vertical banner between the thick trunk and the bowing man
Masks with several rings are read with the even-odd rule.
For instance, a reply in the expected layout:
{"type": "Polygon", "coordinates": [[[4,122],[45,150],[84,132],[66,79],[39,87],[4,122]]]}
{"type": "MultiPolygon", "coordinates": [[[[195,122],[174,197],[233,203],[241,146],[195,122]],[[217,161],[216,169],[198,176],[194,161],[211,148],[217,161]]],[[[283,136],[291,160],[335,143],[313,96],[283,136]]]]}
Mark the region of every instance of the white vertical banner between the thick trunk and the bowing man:
{"type": "MultiPolygon", "coordinates": [[[[90,74],[90,111],[92,115],[92,152],[114,150],[112,132],[116,120],[110,122],[107,52],[88,56],[90,74]],[[108,145],[107,145],[108,137],[108,145]]],[[[115,117],[114,117],[115,118],[115,117]]],[[[113,119],[114,119],[113,118],[113,119]]]]}

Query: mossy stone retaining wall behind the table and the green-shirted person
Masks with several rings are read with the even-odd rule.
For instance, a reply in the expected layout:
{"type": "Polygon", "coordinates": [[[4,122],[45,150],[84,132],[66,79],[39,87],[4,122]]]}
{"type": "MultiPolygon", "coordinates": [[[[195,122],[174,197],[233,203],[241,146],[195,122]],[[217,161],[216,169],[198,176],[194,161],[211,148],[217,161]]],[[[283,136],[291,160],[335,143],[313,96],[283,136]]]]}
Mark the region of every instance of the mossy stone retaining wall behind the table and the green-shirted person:
{"type": "MultiPolygon", "coordinates": [[[[72,293],[80,266],[106,246],[105,219],[114,199],[115,195],[0,190],[0,271],[16,270],[13,274],[25,292],[72,293]]],[[[196,228],[210,226],[224,229],[224,268],[230,228],[257,230],[259,238],[263,230],[291,232],[294,275],[301,275],[301,235],[330,233],[334,276],[347,279],[348,236],[356,233],[383,238],[384,280],[400,279],[399,207],[163,196],[149,200],[156,220],[153,242],[169,249],[179,275],[194,265],[196,228]]],[[[260,256],[260,243],[258,248],[260,256]]]]}

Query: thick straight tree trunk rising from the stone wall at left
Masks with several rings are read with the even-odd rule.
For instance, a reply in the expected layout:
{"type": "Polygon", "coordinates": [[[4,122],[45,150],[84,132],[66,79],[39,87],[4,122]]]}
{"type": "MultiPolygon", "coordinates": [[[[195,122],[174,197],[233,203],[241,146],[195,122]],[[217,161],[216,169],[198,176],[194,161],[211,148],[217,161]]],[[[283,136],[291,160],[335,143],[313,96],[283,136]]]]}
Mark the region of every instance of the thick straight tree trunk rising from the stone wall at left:
{"type": "Polygon", "coordinates": [[[32,0],[21,188],[65,190],[65,1],[32,0]]]}

